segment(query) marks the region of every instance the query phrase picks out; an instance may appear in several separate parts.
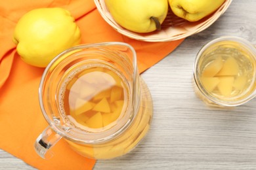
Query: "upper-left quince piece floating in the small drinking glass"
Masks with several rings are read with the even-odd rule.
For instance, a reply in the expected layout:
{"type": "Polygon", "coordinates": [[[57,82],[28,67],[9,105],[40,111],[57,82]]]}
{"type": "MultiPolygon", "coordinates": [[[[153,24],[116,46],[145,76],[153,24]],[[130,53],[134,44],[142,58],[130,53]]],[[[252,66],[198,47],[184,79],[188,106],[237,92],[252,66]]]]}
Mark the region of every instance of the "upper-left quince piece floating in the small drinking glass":
{"type": "Polygon", "coordinates": [[[212,77],[215,76],[223,67],[223,58],[219,56],[215,60],[213,60],[209,65],[206,65],[203,69],[202,76],[212,77]]]}

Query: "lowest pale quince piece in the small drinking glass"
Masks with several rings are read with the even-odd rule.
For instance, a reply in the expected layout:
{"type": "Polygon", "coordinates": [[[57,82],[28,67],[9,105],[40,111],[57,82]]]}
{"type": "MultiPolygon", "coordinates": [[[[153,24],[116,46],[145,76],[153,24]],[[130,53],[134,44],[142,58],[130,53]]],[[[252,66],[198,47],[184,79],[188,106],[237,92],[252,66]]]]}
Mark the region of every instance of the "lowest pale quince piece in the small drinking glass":
{"type": "Polygon", "coordinates": [[[233,89],[234,76],[220,76],[219,79],[220,82],[217,85],[219,92],[221,95],[229,97],[233,89]]]}

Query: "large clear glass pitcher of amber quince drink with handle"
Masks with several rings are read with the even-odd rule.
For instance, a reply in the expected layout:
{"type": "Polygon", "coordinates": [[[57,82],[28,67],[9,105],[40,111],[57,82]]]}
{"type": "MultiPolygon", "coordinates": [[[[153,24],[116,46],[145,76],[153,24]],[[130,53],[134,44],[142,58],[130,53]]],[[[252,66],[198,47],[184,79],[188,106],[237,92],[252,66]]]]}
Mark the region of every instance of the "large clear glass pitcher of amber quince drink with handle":
{"type": "Polygon", "coordinates": [[[49,126],[35,150],[51,158],[64,139],[87,158],[111,159],[130,152],[152,120],[152,97],[140,78],[135,50],[123,42],[85,44],[53,59],[39,85],[49,126]]]}

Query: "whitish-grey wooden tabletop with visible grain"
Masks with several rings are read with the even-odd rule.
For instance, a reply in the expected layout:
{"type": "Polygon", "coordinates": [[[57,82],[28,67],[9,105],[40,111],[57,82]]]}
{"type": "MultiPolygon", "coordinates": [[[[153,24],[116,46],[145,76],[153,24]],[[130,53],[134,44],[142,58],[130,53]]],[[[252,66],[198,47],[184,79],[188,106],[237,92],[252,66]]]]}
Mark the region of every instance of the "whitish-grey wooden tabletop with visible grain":
{"type": "MultiPolygon", "coordinates": [[[[152,127],[133,152],[95,169],[256,169],[256,99],[233,110],[207,107],[192,88],[198,50],[222,35],[256,44],[256,1],[233,0],[205,31],[142,73],[154,100],[152,127]]],[[[0,169],[33,169],[0,150],[0,169]]]]}

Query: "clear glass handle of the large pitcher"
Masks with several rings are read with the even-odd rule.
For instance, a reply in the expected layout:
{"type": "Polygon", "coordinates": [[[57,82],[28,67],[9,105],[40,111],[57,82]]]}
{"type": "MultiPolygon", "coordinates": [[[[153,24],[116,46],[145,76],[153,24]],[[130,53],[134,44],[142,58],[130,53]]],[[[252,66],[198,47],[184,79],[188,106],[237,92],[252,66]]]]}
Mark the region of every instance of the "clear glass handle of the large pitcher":
{"type": "Polygon", "coordinates": [[[50,126],[48,126],[43,133],[35,140],[34,148],[37,154],[43,159],[49,159],[53,157],[53,152],[49,150],[56,144],[62,136],[55,133],[50,126]]]}

